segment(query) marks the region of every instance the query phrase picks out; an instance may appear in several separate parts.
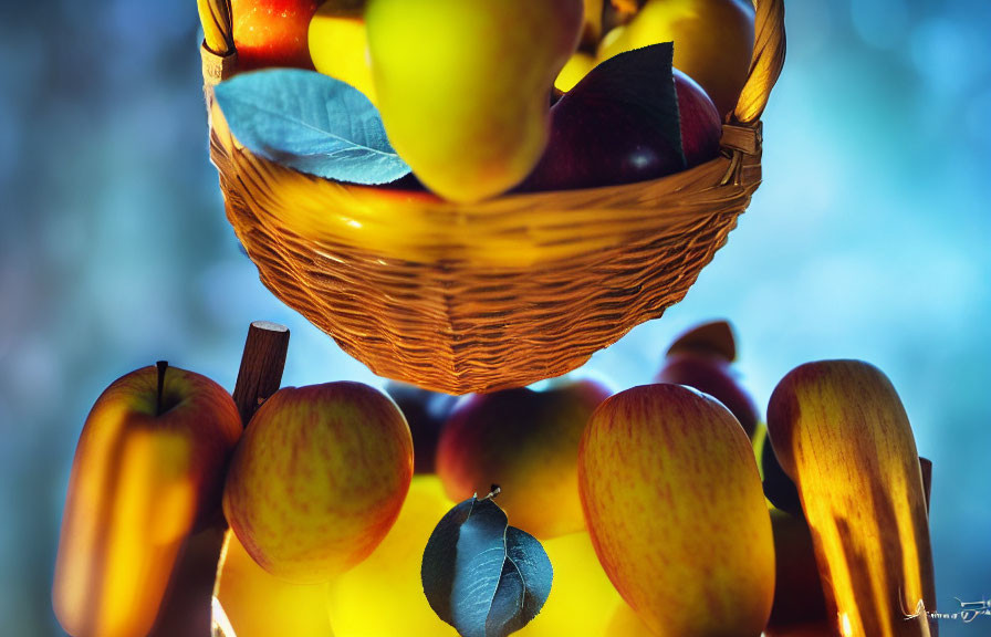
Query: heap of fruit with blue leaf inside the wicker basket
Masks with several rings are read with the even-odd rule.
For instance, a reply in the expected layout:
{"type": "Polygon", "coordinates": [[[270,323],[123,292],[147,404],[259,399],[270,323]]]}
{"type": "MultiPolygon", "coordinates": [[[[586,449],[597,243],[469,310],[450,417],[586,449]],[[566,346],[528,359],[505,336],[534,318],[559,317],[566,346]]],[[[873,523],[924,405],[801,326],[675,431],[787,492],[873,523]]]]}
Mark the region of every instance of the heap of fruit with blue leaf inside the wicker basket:
{"type": "Polygon", "coordinates": [[[716,158],[754,41],[745,0],[233,0],[231,20],[241,73],[216,96],[241,144],[458,202],[716,158]]]}

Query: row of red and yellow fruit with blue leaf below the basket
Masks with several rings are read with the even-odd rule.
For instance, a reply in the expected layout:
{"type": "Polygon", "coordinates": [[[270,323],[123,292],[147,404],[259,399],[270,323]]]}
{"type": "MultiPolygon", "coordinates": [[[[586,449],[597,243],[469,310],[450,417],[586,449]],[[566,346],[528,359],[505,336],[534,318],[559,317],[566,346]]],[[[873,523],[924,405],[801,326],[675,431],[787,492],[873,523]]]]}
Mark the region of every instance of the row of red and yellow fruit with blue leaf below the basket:
{"type": "Polygon", "coordinates": [[[928,635],[927,485],[890,382],[802,365],[765,427],[734,358],[717,322],[614,395],[283,388],[243,434],[213,382],[138,369],[80,438],[56,616],[169,634],[184,552],[226,519],[228,637],[928,635]]]}

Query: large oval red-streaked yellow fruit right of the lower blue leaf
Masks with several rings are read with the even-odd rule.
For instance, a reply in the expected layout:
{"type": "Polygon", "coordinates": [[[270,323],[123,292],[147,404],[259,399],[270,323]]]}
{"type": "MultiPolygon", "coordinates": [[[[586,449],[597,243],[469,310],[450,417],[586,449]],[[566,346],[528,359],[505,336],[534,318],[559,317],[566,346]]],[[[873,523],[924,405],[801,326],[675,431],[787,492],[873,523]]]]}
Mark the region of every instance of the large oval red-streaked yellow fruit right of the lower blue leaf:
{"type": "Polygon", "coordinates": [[[578,484],[595,552],[656,635],[763,630],[774,542],[750,440],[680,385],[620,391],[592,416],[578,484]]]}

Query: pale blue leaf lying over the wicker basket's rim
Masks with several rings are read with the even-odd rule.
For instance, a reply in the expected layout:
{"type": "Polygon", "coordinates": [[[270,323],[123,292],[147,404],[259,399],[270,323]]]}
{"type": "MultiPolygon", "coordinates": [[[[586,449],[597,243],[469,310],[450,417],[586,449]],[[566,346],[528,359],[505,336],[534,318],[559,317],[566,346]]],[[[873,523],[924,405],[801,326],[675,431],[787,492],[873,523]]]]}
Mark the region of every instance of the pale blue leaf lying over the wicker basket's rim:
{"type": "Polygon", "coordinates": [[[241,73],[215,88],[238,142],[301,173],[377,185],[409,174],[378,111],[357,88],[298,69],[241,73]]]}

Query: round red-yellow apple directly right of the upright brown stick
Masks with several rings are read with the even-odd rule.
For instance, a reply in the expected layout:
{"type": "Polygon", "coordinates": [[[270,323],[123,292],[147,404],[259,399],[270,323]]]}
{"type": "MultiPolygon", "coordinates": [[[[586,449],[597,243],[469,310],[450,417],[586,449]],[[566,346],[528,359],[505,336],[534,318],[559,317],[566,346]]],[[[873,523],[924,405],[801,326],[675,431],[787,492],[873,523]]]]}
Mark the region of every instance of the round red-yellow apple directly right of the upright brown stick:
{"type": "Polygon", "coordinates": [[[269,573],[330,581],[378,546],[413,478],[413,439],[361,383],[285,387],[254,414],[230,463],[223,512],[269,573]]]}

